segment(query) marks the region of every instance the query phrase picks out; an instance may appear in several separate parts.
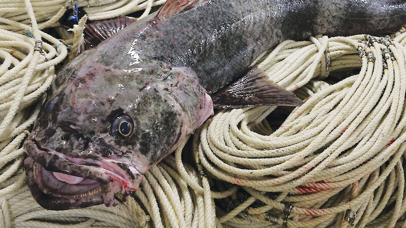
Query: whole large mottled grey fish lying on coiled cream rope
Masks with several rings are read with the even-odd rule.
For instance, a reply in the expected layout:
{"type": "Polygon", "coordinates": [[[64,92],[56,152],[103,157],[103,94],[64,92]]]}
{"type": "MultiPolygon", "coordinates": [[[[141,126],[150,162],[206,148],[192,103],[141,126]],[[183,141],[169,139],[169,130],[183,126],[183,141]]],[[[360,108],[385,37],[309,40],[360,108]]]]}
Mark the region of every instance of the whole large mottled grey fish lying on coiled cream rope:
{"type": "Polygon", "coordinates": [[[47,209],[118,204],[215,108],[300,105],[250,64],[287,39],[386,34],[406,0],[179,0],[66,65],[24,148],[47,209]]]}

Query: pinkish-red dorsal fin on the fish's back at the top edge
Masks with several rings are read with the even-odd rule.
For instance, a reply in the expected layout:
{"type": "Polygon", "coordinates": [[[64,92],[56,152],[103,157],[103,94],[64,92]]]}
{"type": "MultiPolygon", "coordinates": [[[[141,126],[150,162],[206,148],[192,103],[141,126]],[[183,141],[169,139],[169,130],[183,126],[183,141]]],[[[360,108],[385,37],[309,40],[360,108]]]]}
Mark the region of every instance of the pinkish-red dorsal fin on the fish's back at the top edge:
{"type": "Polygon", "coordinates": [[[208,0],[167,0],[159,11],[157,17],[171,17],[174,14],[189,10],[208,0]]]}

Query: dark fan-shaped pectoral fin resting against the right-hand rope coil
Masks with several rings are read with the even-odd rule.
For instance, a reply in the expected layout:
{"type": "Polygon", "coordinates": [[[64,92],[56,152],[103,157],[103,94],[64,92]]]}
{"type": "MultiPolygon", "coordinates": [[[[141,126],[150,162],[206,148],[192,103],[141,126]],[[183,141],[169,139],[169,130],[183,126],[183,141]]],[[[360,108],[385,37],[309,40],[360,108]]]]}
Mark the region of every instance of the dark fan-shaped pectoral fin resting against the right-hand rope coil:
{"type": "Polygon", "coordinates": [[[259,105],[299,106],[303,102],[270,80],[258,68],[252,68],[240,80],[210,95],[215,108],[240,108],[259,105]]]}

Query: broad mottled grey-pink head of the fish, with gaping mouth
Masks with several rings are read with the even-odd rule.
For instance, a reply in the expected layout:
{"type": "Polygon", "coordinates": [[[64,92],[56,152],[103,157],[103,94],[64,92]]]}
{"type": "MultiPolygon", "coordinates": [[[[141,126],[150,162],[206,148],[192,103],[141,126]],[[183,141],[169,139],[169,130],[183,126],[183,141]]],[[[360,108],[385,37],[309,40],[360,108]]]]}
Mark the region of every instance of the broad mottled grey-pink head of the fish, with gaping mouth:
{"type": "MultiPolygon", "coordinates": [[[[88,51],[89,52],[89,51],[88,51]]],[[[46,209],[114,206],[213,113],[193,72],[114,69],[84,53],[56,77],[24,145],[28,186],[46,209]]]]}

